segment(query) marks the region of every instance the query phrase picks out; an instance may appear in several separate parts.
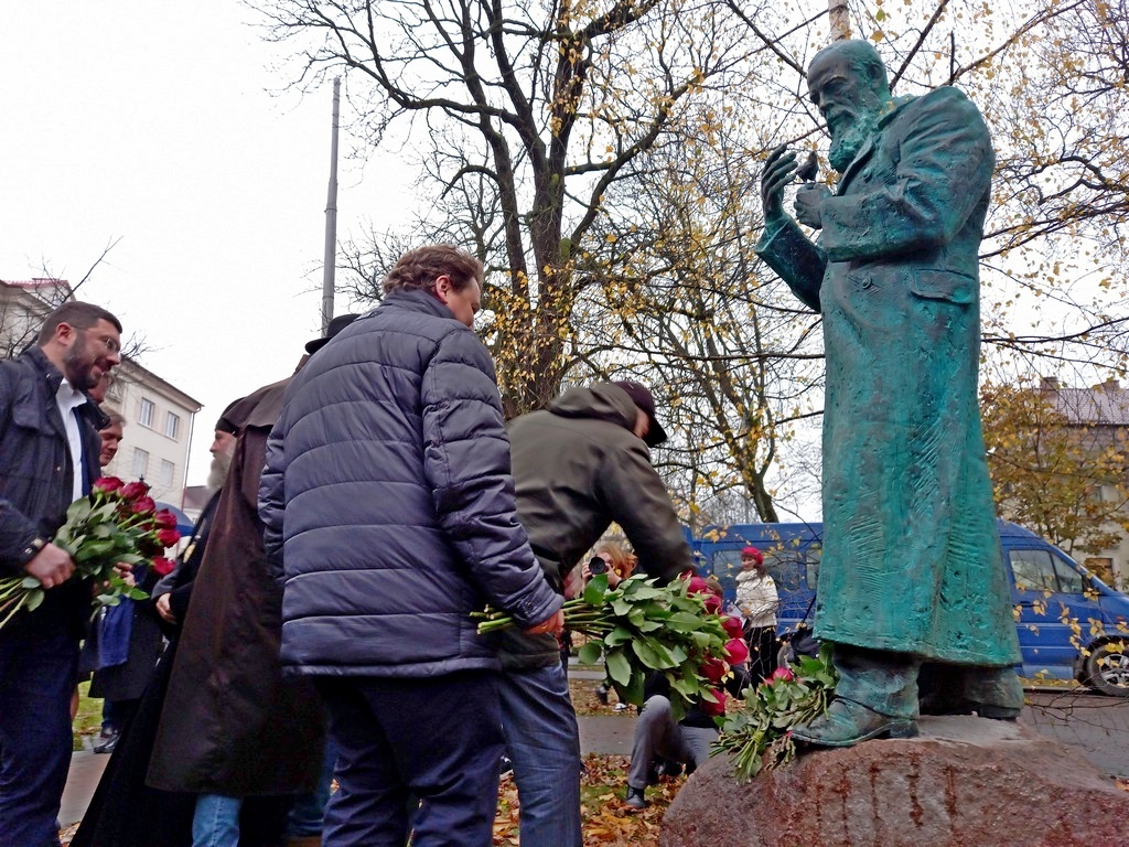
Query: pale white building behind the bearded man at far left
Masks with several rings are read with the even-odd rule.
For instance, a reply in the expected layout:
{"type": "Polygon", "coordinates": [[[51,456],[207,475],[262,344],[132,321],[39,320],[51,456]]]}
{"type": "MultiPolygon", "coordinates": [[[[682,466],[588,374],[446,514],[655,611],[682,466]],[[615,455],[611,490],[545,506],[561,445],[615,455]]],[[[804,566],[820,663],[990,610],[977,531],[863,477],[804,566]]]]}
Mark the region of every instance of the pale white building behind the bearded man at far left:
{"type": "MultiPolygon", "coordinates": [[[[18,356],[33,343],[43,320],[72,296],[65,280],[0,280],[0,358],[18,356]]],[[[200,403],[122,356],[122,364],[111,373],[102,408],[125,419],[121,447],[103,473],[125,481],[143,479],[155,500],[180,507],[200,403]]]]}

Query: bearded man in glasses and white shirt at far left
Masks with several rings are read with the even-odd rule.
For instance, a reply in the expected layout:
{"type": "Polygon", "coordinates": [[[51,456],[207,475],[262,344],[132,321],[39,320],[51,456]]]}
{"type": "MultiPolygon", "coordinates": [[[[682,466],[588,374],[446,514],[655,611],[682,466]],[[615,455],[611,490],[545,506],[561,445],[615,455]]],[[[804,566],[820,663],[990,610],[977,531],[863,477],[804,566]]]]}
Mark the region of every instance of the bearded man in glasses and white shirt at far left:
{"type": "Polygon", "coordinates": [[[67,507],[98,477],[104,417],[86,394],[120,361],[122,325],[65,303],[37,344],[0,363],[0,574],[47,588],[0,629],[0,846],[58,844],[70,765],[70,699],[89,592],[51,543],[67,507]]]}

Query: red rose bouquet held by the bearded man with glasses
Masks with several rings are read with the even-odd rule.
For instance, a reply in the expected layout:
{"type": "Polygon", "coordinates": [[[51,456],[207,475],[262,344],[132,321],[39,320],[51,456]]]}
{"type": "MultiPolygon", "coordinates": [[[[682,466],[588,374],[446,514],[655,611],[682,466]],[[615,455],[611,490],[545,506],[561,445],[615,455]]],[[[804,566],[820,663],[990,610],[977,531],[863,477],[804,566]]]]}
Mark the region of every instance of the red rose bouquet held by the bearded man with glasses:
{"type": "MultiPolygon", "coordinates": [[[[75,560],[75,575],[98,587],[96,605],[117,605],[122,597],[148,596],[117,571],[119,564],[148,562],[158,574],[173,569],[173,562],[161,553],[181,540],[176,517],[166,509],[158,512],[148,491],[145,482],[123,483],[116,477],[103,477],[94,483],[89,497],[68,507],[67,521],[52,539],[75,560]]],[[[0,627],[20,609],[37,608],[44,594],[35,577],[0,579],[0,627]]]]}

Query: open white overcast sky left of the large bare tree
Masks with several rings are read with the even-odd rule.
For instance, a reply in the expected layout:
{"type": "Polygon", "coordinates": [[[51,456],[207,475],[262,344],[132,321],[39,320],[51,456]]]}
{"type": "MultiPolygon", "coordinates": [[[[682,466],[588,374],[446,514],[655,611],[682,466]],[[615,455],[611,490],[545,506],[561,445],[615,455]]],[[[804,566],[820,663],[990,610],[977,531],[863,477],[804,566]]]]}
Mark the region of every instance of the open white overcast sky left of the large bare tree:
{"type": "MultiPolygon", "coordinates": [[[[207,477],[224,407],[291,373],[320,334],[332,87],[278,94],[289,78],[270,67],[287,49],[253,19],[235,0],[8,2],[0,16],[0,279],[45,268],[75,282],[121,239],[79,297],[203,404],[189,484],[207,477]]],[[[339,167],[339,238],[402,216],[395,160],[339,167]]]]}

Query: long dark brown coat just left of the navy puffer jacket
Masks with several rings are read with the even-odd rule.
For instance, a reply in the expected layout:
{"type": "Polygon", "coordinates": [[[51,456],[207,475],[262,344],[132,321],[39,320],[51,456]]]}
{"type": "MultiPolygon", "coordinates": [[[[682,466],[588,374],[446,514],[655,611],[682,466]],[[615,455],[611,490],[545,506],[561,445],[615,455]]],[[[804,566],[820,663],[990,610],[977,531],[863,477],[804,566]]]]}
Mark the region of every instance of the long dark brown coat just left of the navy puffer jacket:
{"type": "Polygon", "coordinates": [[[164,791],[251,796],[313,789],[324,715],[308,680],[279,664],[282,590],[255,509],[270,425],[286,383],[229,418],[242,428],[204,548],[149,765],[164,791]]]}

